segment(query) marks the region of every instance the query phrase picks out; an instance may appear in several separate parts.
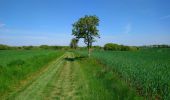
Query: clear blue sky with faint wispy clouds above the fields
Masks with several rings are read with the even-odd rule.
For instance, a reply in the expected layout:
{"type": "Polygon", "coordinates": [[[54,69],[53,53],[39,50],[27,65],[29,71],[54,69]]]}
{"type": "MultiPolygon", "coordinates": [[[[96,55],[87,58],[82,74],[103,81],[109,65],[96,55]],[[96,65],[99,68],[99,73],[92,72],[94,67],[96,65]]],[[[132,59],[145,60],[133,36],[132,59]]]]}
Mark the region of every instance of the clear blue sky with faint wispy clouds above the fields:
{"type": "Polygon", "coordinates": [[[0,0],[0,44],[67,46],[85,15],[100,19],[94,45],[170,44],[170,0],[0,0]]]}

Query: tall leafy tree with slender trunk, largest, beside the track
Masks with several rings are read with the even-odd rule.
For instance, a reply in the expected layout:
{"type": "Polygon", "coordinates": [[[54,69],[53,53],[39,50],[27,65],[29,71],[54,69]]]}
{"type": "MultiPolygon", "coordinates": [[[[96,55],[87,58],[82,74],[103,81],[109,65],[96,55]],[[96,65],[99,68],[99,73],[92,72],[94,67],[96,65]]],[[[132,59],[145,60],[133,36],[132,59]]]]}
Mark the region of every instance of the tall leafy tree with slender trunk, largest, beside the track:
{"type": "Polygon", "coordinates": [[[88,15],[85,15],[73,24],[72,35],[76,36],[77,39],[84,39],[84,43],[88,48],[88,56],[90,56],[90,48],[92,43],[95,42],[95,37],[100,37],[97,26],[99,26],[99,18],[88,15]]]}

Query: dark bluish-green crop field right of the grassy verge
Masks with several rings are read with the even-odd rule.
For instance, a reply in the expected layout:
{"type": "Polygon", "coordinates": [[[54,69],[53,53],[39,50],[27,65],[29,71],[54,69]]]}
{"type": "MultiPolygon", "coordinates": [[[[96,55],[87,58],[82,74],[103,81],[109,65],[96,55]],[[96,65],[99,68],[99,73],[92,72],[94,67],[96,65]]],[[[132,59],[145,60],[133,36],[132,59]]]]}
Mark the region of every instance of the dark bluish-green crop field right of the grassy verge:
{"type": "MultiPolygon", "coordinates": [[[[85,55],[86,51],[79,53],[85,55]]],[[[92,58],[111,68],[146,99],[170,98],[170,49],[94,51],[92,58]]]]}

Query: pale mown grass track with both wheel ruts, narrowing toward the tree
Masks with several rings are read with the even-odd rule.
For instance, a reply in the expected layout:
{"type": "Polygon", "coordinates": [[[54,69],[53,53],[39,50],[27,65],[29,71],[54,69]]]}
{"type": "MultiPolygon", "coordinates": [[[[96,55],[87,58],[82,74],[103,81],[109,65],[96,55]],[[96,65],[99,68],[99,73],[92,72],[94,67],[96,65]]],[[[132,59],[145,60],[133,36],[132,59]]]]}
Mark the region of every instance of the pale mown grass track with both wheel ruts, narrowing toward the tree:
{"type": "Polygon", "coordinates": [[[74,61],[73,53],[66,53],[39,75],[30,85],[16,92],[8,99],[12,100],[75,100],[81,99],[80,94],[87,91],[88,86],[74,61]]]}

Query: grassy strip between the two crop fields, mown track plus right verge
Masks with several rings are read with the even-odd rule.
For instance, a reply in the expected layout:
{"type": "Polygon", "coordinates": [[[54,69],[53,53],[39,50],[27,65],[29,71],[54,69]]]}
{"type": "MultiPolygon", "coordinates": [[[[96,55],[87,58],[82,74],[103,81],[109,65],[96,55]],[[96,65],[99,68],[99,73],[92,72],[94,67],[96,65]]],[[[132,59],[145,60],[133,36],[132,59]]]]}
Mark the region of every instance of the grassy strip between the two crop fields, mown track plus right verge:
{"type": "Polygon", "coordinates": [[[72,52],[55,59],[35,75],[26,78],[2,99],[15,100],[112,100],[142,99],[134,89],[114,73],[103,73],[105,67],[72,52]],[[111,86],[114,86],[111,87],[111,86]]]}

